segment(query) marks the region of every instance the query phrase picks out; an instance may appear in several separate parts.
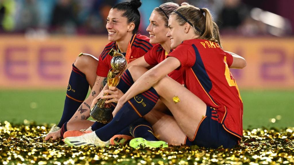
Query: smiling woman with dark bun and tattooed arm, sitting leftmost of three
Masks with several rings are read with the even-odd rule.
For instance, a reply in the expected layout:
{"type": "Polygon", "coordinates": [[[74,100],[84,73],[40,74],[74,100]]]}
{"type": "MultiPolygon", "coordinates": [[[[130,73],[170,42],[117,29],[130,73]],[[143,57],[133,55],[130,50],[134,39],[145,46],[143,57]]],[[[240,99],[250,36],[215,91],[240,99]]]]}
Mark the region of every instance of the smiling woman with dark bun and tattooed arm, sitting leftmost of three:
{"type": "MultiPolygon", "coordinates": [[[[87,121],[90,117],[90,106],[95,99],[99,99],[99,94],[103,89],[103,80],[107,77],[112,57],[108,52],[113,48],[126,56],[127,62],[131,62],[136,58],[143,56],[152,48],[149,43],[149,38],[136,34],[140,24],[140,13],[138,8],[141,6],[140,0],[131,0],[129,2],[121,2],[113,6],[107,17],[106,29],[108,31],[108,43],[101,55],[94,55],[99,58],[97,60],[91,56],[81,54],[73,64],[69,85],[72,90],[66,93],[64,103],[64,111],[61,120],[57,127],[53,127],[50,133],[45,138],[46,140],[62,137],[67,130],[67,122],[83,120],[84,124],[72,124],[71,128],[87,129],[92,126],[93,129],[98,129],[104,124],[87,121]],[[86,98],[89,86],[91,87],[91,95],[86,98]],[[86,100],[85,100],[86,98],[86,100]],[[52,132],[52,133],[51,133],[52,132]]],[[[105,86],[108,89],[108,86],[105,86]]],[[[95,102],[94,101],[94,102],[95,102]]]]}

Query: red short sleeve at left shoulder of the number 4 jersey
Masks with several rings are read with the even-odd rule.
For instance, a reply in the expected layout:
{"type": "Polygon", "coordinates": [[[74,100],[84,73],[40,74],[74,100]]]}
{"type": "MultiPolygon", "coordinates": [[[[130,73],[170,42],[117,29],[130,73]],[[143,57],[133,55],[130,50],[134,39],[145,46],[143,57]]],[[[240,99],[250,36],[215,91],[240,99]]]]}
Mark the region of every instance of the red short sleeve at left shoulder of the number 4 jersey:
{"type": "Polygon", "coordinates": [[[181,63],[181,67],[187,68],[191,68],[196,60],[193,47],[183,43],[179,45],[176,49],[174,49],[171,53],[169,53],[168,57],[177,58],[181,63]]]}

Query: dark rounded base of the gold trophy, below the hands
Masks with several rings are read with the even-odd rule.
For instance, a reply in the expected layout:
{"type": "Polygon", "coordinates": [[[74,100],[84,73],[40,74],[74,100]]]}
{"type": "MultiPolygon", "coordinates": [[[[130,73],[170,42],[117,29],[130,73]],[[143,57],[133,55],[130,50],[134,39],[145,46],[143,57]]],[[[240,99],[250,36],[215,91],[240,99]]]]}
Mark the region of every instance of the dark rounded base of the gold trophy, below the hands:
{"type": "Polygon", "coordinates": [[[113,118],[111,108],[99,108],[97,104],[90,111],[90,115],[94,120],[103,124],[109,123],[113,118]]]}

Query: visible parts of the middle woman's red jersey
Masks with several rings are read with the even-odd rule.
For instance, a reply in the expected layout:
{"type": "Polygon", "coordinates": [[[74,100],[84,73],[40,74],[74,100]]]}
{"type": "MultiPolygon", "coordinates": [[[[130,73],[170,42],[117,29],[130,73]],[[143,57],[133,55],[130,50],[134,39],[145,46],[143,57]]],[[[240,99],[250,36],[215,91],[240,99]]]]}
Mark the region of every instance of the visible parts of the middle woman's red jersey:
{"type": "MultiPolygon", "coordinates": [[[[166,59],[166,51],[158,43],[144,55],[144,58],[149,65],[155,66],[166,59]]],[[[173,70],[168,76],[176,80],[178,83],[183,84],[183,77],[180,70],[173,70]]]]}

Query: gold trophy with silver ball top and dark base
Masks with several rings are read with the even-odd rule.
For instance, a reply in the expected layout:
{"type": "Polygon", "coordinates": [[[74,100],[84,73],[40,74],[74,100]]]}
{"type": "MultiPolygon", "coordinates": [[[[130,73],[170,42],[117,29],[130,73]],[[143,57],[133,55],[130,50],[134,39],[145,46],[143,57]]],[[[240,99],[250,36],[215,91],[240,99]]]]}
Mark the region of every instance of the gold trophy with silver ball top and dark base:
{"type": "MultiPolygon", "coordinates": [[[[113,48],[109,51],[109,55],[112,56],[110,61],[111,69],[107,74],[107,84],[108,87],[116,87],[120,80],[120,75],[123,73],[123,70],[126,69],[127,60],[123,54],[114,50],[113,48]]],[[[108,95],[108,93],[103,96],[108,95]]],[[[112,116],[111,103],[105,103],[108,99],[99,99],[95,106],[91,109],[90,115],[97,122],[109,123],[112,116]]]]}

